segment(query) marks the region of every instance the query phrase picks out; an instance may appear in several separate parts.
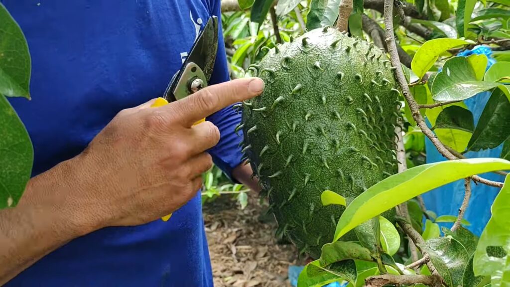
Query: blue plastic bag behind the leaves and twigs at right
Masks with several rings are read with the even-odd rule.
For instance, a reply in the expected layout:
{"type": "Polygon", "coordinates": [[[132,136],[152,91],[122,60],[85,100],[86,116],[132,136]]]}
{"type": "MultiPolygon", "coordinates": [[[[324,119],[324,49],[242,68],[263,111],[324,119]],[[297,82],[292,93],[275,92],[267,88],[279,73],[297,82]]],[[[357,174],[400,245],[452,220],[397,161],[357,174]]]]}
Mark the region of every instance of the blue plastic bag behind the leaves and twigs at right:
{"type": "MultiPolygon", "coordinates": [[[[496,60],[492,57],[492,50],[487,46],[476,46],[472,50],[466,50],[459,53],[457,56],[469,56],[472,54],[484,54],[488,58],[487,69],[489,69],[496,60]]],[[[475,125],[478,123],[485,104],[489,100],[491,92],[481,92],[472,98],[464,101],[469,110],[473,113],[475,125]]],[[[427,122],[430,127],[430,123],[427,122]]],[[[464,154],[467,158],[480,158],[480,157],[499,157],[503,145],[489,150],[481,150],[479,152],[468,152],[464,154]]],[[[425,138],[425,149],[427,153],[427,163],[439,162],[446,160],[439,152],[432,142],[425,138]]],[[[504,181],[502,175],[487,173],[480,175],[486,179],[504,181]]],[[[469,206],[466,210],[464,218],[471,223],[470,226],[465,226],[474,234],[480,236],[483,228],[491,218],[490,207],[499,192],[499,188],[487,186],[484,184],[475,185],[471,183],[471,199],[469,206]]],[[[423,200],[428,210],[434,211],[438,216],[452,215],[457,216],[458,208],[464,200],[464,180],[458,180],[439,188],[433,189],[424,194],[423,200]]],[[[452,223],[438,223],[440,226],[450,228],[452,223]]]]}

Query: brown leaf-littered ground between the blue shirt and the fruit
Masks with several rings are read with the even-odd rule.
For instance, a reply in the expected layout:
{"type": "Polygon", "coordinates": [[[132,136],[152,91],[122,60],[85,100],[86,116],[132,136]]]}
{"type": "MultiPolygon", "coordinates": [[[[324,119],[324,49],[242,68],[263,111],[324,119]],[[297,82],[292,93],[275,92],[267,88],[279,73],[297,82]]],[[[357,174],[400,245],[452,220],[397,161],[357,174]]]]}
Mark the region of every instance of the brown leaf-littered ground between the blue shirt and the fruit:
{"type": "Polygon", "coordinates": [[[303,265],[291,244],[277,243],[267,204],[250,198],[241,210],[228,196],[204,204],[215,287],[287,287],[289,265],[303,265]]]}

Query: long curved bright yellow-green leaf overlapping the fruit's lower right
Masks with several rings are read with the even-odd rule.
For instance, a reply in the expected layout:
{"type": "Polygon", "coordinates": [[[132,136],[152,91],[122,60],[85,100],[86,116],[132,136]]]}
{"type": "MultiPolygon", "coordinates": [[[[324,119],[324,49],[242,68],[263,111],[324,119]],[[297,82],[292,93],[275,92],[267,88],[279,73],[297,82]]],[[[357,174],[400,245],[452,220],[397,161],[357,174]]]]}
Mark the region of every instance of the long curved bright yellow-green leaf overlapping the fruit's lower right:
{"type": "Polygon", "coordinates": [[[473,174],[510,169],[499,158],[469,158],[422,164],[372,185],[342,213],[334,241],[361,223],[418,195],[473,174]]]}

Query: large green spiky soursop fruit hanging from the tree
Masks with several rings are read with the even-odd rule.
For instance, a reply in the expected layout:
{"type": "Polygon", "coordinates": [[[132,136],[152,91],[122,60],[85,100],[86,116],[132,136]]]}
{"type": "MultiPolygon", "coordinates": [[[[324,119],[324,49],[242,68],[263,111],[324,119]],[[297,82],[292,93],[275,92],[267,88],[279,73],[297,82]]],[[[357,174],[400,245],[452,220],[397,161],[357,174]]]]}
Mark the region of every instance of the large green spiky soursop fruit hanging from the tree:
{"type": "Polygon", "coordinates": [[[348,204],[397,171],[391,62],[368,42],[320,28],[270,50],[252,70],[266,86],[243,103],[243,150],[277,234],[317,258],[345,210],[323,206],[322,192],[348,204]]]}

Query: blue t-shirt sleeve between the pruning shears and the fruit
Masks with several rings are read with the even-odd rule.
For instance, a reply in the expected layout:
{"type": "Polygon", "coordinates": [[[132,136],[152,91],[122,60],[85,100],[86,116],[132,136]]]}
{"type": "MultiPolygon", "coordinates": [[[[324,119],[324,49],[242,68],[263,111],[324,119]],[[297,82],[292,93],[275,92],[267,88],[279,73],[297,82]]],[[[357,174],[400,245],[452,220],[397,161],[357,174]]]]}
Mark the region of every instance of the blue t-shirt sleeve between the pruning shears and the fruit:
{"type": "MultiPolygon", "coordinates": [[[[218,51],[214,64],[213,74],[209,82],[210,85],[226,82],[230,80],[228,73],[228,63],[225,54],[225,45],[221,27],[221,5],[220,0],[211,0],[211,14],[218,17],[218,51]]],[[[232,177],[232,170],[242,163],[243,154],[241,153],[240,142],[243,138],[242,130],[236,134],[235,129],[241,122],[241,113],[228,106],[211,116],[207,121],[216,125],[220,131],[221,137],[218,144],[209,150],[214,164],[220,168],[228,178],[238,183],[232,177]]]]}

